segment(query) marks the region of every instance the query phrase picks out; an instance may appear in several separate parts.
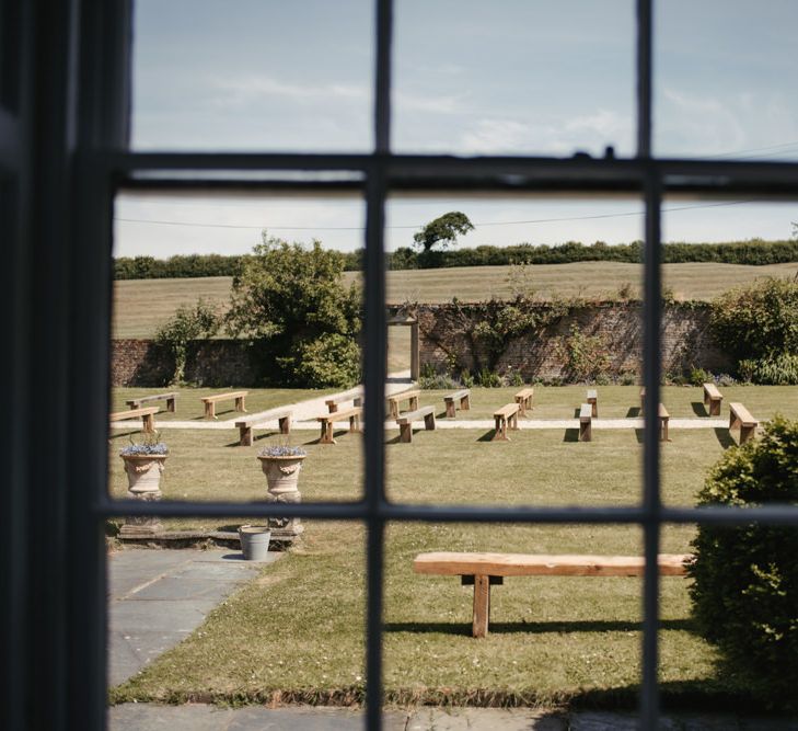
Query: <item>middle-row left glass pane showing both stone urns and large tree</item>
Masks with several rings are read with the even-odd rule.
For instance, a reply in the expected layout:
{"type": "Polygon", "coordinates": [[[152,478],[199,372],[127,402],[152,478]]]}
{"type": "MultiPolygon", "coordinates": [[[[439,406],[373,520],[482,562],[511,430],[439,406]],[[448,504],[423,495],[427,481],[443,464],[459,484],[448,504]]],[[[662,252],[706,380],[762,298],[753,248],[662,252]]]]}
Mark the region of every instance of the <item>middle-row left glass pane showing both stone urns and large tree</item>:
{"type": "MultiPolygon", "coordinates": [[[[119,197],[113,496],[360,496],[362,215],[358,198],[119,197]],[[155,450],[150,443],[167,448],[154,467],[127,454],[155,450]]],[[[139,523],[149,525],[129,523],[120,535],[131,539],[139,523]]],[[[287,539],[300,526],[289,522],[287,539]]],[[[234,527],[171,518],[148,529],[211,535],[234,527]]]]}

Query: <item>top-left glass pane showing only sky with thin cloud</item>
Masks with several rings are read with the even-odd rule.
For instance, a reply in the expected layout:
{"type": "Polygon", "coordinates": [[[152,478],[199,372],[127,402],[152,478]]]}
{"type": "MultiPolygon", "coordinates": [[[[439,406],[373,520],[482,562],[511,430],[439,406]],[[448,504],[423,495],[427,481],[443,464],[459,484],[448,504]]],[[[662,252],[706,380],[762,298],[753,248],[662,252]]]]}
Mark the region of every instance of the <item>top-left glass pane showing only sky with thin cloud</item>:
{"type": "Polygon", "coordinates": [[[132,147],[370,149],[372,5],[138,0],[132,147]]]}

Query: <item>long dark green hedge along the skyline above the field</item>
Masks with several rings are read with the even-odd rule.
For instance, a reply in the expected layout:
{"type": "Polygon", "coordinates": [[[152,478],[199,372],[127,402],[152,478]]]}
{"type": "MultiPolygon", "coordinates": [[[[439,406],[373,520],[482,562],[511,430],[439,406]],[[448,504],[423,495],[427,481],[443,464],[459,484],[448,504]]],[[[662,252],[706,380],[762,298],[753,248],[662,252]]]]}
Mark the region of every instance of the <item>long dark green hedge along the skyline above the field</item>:
{"type": "MultiPolygon", "coordinates": [[[[346,252],[344,270],[359,272],[363,251],[346,252]]],[[[472,249],[418,252],[402,247],[385,254],[391,270],[443,269],[450,266],[502,266],[507,264],[568,264],[571,262],[608,261],[636,263],[641,261],[643,243],[609,245],[603,241],[586,245],[568,241],[557,245],[519,243],[511,247],[483,245],[472,249]]],[[[120,256],[114,260],[115,279],[163,279],[201,276],[235,276],[244,256],[220,254],[153,256],[120,256]]],[[[719,262],[725,264],[783,264],[798,261],[798,240],[735,241],[731,243],[666,243],[662,261],[667,264],[685,262],[719,262]]]]}

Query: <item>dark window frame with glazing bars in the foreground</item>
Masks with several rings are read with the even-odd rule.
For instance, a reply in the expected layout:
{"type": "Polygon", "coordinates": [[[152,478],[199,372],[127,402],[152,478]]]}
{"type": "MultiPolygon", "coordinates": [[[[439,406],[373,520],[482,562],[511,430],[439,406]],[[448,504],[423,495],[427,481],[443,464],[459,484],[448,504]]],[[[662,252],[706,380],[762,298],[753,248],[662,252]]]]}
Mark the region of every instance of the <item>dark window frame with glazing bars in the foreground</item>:
{"type": "MultiPolygon", "coordinates": [[[[658,717],[658,574],[661,526],[669,523],[762,521],[798,526],[798,509],[747,512],[668,509],[660,500],[659,442],[645,431],[645,490],[623,509],[418,506],[394,504],[384,491],[382,389],[386,315],[385,202],[394,192],[435,194],[565,192],[639,195],[646,206],[645,385],[647,423],[656,420],[660,382],[660,204],[663,195],[798,196],[798,164],[652,158],[652,0],[637,2],[636,149],[628,157],[532,158],[400,156],[392,146],[391,0],[375,0],[373,149],[363,153],[130,151],[127,144],[130,7],[5,0],[23,19],[19,49],[0,60],[2,233],[12,242],[3,304],[14,325],[2,373],[11,408],[27,422],[3,420],[4,490],[3,723],[8,729],[100,729],[104,718],[104,542],[106,517],[152,513],[152,506],[106,495],[111,207],[125,190],[263,190],[325,194],[335,187],[366,198],[366,493],[355,503],[303,504],[300,517],[351,518],[368,526],[368,727],[381,728],[381,616],[388,522],[506,521],[637,525],[645,535],[644,652],[640,721],[658,717]],[[80,11],[80,12],[79,12],[80,11]],[[42,48],[47,53],[43,54],[42,48]],[[9,82],[8,56],[23,83],[9,82]],[[34,64],[34,61],[37,61],[34,64]],[[296,173],[329,171],[328,182],[296,173]],[[5,181],[11,181],[7,184],[5,181]],[[8,205],[7,205],[8,204],[8,205]],[[14,215],[15,214],[15,215],[14,215]],[[47,384],[47,396],[41,388],[47,384]],[[47,458],[43,458],[43,452],[47,458]],[[49,542],[43,542],[47,539],[49,542]]],[[[498,12],[498,11],[497,11],[498,12]]],[[[531,70],[530,73],[534,73],[531,70]]],[[[263,150],[268,150],[268,140],[263,150]]],[[[7,263],[4,263],[7,264],[7,263]]],[[[161,503],[162,516],[257,516],[257,505],[161,503]]]]}

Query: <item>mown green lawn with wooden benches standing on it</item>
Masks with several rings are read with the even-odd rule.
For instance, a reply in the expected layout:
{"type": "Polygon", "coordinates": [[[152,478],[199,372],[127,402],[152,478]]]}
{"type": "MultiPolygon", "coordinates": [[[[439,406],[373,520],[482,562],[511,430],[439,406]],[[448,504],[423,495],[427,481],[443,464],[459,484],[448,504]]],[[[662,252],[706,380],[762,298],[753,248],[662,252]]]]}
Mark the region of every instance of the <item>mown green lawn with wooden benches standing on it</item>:
{"type": "MultiPolygon", "coordinates": [[[[637,387],[599,388],[608,415],[637,406],[637,387]]],[[[765,418],[795,389],[741,389],[741,400],[765,418]]],[[[731,389],[721,389],[730,399],[731,389]]],[[[540,388],[535,402],[568,414],[583,389],[540,388]]],[[[690,415],[699,389],[666,390],[670,408],[690,415]]],[[[438,393],[425,393],[438,401],[438,393]]],[[[474,411],[508,396],[475,389],[474,411]]],[[[735,396],[737,398],[737,396],[735,396]]],[[[442,401],[440,401],[442,404],[442,401]]],[[[489,407],[488,407],[489,409],[489,407]]],[[[533,418],[541,418],[534,412],[533,418]]],[[[573,413],[573,412],[571,412],[573,413]]],[[[601,413],[601,411],[600,411],[601,413]]],[[[725,410],[724,413],[727,413],[725,410]]],[[[603,415],[603,414],[602,414],[603,415]]],[[[460,415],[459,415],[460,419],[460,415]]],[[[279,441],[262,436],[233,446],[234,432],[170,430],[164,496],[252,501],[266,492],[255,454],[279,441]]],[[[574,443],[565,430],[524,430],[512,442],[483,441],[484,430],[419,432],[413,444],[386,433],[391,500],[441,504],[628,505],[640,501],[641,445],[635,430],[593,432],[574,443]]],[[[709,467],[728,448],[725,430],[671,430],[662,446],[663,499],[692,505],[709,467]]],[[[736,435],[735,435],[736,436],[736,435]]],[[[361,494],[362,448],[342,434],[333,446],[315,432],[296,431],[305,444],[300,476],[305,502],[361,494]]],[[[112,439],[111,491],[125,492],[120,439],[112,439]],[[117,464],[118,462],[118,464],[117,464]]],[[[170,521],[169,527],[221,527],[217,522],[170,521]]],[[[338,703],[362,700],[365,530],[345,522],[305,521],[301,546],[211,613],[174,650],[119,688],[112,699],[212,699],[225,703],[338,703]]],[[[666,526],[662,550],[690,550],[693,526],[666,526]]],[[[511,526],[391,524],[385,551],[386,703],[544,704],[631,706],[639,683],[640,591],[634,579],[508,579],[493,592],[491,632],[470,637],[471,589],[456,579],[412,571],[428,550],[639,553],[631,526],[511,526]]],[[[661,583],[660,681],[671,704],[726,703],[742,693],[717,676],[714,651],[693,631],[689,581],[661,583]]],[[[744,694],[743,694],[744,695],[744,694]]]]}

